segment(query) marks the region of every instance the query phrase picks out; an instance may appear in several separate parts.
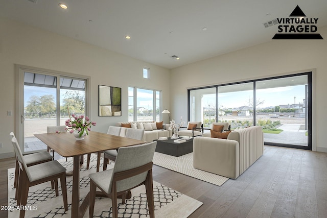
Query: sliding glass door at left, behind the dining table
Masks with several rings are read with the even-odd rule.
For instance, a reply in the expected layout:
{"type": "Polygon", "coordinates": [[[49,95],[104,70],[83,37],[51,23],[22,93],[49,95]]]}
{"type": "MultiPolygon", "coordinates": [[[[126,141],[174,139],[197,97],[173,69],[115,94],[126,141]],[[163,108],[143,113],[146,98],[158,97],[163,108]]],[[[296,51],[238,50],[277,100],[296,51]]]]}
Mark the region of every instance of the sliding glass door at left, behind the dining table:
{"type": "Polygon", "coordinates": [[[86,115],[86,79],[26,68],[19,68],[17,78],[16,137],[24,153],[45,150],[34,134],[46,133],[48,126],[65,125],[68,110],[86,115]]]}

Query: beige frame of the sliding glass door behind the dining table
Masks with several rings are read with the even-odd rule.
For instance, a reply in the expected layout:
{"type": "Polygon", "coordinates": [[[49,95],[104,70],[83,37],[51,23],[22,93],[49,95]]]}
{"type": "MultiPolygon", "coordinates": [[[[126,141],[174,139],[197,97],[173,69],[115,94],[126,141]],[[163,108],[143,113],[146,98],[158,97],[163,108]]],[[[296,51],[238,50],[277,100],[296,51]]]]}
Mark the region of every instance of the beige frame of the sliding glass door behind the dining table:
{"type": "Polygon", "coordinates": [[[49,69],[43,69],[43,68],[37,68],[37,67],[31,67],[31,66],[25,66],[25,65],[19,65],[15,64],[15,136],[17,138],[17,141],[19,143],[19,146],[21,147],[21,151],[24,154],[33,153],[33,152],[25,152],[24,151],[24,144],[25,144],[25,136],[24,136],[24,74],[25,72],[33,72],[35,74],[41,74],[41,75],[49,75],[57,77],[57,88],[56,88],[56,104],[57,108],[59,108],[56,111],[57,117],[59,119],[56,119],[57,126],[60,125],[60,78],[76,78],[76,79],[83,79],[85,80],[85,115],[90,117],[90,77],[88,76],[82,76],[82,75],[76,75],[76,74],[69,74],[66,72],[60,72],[55,70],[49,70],[49,69]]]}

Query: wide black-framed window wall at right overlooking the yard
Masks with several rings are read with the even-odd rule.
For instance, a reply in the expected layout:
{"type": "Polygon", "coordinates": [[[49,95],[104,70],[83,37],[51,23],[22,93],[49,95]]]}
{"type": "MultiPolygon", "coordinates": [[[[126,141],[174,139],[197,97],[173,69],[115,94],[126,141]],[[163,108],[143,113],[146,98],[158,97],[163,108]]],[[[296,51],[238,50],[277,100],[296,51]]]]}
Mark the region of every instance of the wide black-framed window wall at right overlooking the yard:
{"type": "Polygon", "coordinates": [[[267,145],[311,150],[311,74],[189,89],[189,120],[262,126],[267,145]]]}

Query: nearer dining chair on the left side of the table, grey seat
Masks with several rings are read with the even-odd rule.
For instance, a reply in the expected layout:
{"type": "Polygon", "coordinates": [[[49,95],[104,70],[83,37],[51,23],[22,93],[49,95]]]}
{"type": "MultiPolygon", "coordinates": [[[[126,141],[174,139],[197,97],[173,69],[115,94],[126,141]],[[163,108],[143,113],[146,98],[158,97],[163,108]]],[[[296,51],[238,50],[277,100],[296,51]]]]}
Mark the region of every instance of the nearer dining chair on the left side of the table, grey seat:
{"type": "MultiPolygon", "coordinates": [[[[19,184],[17,197],[17,206],[26,206],[29,188],[48,181],[55,181],[56,196],[59,196],[58,178],[60,178],[61,192],[65,211],[68,210],[67,186],[66,186],[66,168],[58,161],[51,160],[48,162],[27,166],[24,156],[22,156],[17,139],[11,139],[19,163],[19,184]]],[[[25,210],[20,210],[19,217],[25,217],[25,210]]]]}

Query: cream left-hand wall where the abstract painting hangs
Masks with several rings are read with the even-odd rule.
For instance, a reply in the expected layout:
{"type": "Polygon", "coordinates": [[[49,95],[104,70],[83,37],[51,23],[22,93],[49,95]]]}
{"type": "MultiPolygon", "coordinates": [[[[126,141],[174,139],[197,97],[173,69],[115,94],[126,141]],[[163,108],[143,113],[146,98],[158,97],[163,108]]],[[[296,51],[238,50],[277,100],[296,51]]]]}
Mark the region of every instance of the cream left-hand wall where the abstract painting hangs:
{"type": "Polygon", "coordinates": [[[136,60],[100,47],[0,17],[0,158],[13,155],[9,133],[15,130],[14,64],[91,77],[92,130],[106,132],[109,125],[128,120],[128,86],[162,90],[163,108],[169,108],[169,69],[136,60]],[[150,67],[151,80],[143,79],[150,67]],[[122,87],[122,116],[98,116],[98,85],[122,87]],[[7,116],[12,111],[12,116],[7,116]]]}

